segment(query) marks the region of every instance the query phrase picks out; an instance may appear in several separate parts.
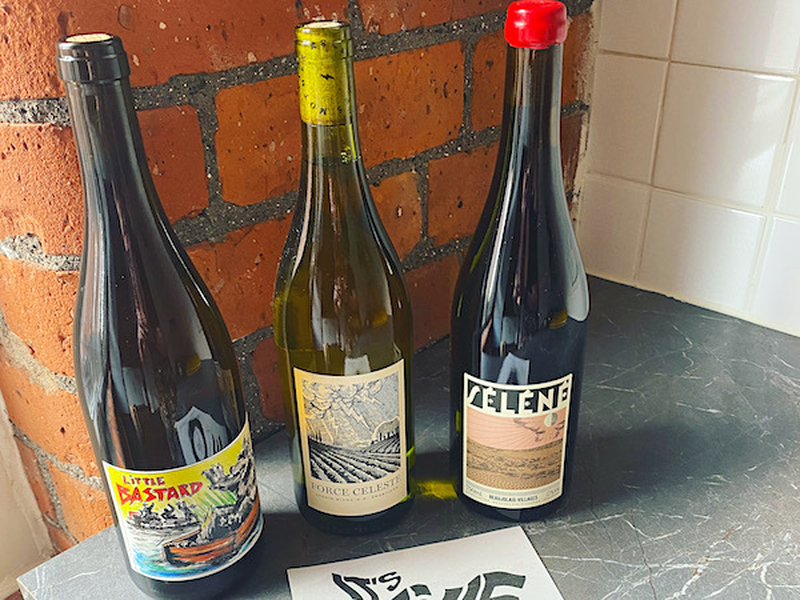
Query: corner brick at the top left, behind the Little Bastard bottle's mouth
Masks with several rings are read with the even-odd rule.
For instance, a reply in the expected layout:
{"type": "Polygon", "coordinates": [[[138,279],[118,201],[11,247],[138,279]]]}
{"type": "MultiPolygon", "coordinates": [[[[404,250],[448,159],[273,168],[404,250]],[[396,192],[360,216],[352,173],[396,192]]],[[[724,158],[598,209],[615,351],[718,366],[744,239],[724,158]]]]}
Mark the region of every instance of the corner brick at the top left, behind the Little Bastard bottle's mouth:
{"type": "Polygon", "coordinates": [[[59,96],[53,42],[62,35],[119,35],[134,86],[179,73],[221,71],[293,51],[294,26],[344,15],[345,0],[170,0],[120,4],[100,0],[8,0],[0,11],[0,98],[59,96]]]}

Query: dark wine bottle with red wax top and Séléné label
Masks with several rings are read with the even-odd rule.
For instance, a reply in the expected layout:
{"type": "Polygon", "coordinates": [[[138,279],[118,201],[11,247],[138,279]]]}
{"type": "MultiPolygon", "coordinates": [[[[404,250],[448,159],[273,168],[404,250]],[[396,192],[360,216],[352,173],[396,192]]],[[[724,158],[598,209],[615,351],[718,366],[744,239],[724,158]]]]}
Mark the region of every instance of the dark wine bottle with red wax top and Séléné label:
{"type": "Polygon", "coordinates": [[[541,518],[563,501],[589,295],[567,209],[559,125],[566,9],[512,3],[500,146],[451,313],[451,459],[478,512],[541,518]]]}

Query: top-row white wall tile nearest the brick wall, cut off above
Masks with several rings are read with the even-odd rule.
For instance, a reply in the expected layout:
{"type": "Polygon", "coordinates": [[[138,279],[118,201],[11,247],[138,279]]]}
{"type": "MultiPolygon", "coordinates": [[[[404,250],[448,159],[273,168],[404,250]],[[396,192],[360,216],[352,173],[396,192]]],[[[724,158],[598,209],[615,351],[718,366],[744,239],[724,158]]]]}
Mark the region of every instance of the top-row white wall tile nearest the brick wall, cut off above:
{"type": "Polygon", "coordinates": [[[677,0],[603,0],[601,50],[667,58],[677,0]]]}

